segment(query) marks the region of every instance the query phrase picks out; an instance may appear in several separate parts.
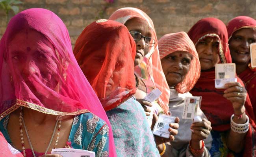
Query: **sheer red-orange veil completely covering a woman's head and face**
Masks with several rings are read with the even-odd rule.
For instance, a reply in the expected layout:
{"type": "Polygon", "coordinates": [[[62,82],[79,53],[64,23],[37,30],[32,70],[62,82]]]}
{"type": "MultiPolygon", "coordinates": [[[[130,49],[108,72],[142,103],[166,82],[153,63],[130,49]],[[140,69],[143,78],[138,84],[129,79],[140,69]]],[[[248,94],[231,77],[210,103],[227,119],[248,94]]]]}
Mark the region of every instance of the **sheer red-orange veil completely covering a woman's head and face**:
{"type": "Polygon", "coordinates": [[[136,45],[128,29],[100,19],[87,26],[76,40],[74,54],[105,111],[134,95],[136,45]]]}

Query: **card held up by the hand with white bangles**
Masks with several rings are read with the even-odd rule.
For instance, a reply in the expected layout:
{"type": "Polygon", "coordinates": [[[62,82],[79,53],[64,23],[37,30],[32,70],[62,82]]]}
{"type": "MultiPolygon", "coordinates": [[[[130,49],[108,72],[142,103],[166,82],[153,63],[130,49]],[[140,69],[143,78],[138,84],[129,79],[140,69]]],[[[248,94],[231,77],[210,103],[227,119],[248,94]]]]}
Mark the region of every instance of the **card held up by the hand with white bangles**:
{"type": "Polygon", "coordinates": [[[236,64],[216,64],[215,66],[215,88],[225,88],[228,82],[236,82],[236,64]]]}

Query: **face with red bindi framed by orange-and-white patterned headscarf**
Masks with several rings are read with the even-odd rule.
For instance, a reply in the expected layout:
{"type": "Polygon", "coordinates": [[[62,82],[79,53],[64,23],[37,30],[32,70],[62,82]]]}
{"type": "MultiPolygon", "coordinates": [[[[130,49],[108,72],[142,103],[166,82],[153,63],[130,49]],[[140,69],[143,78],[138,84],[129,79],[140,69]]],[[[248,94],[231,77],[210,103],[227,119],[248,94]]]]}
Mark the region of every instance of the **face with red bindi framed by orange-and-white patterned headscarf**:
{"type": "Polygon", "coordinates": [[[185,51],[175,51],[161,59],[163,73],[170,87],[184,80],[192,59],[193,56],[185,51]]]}

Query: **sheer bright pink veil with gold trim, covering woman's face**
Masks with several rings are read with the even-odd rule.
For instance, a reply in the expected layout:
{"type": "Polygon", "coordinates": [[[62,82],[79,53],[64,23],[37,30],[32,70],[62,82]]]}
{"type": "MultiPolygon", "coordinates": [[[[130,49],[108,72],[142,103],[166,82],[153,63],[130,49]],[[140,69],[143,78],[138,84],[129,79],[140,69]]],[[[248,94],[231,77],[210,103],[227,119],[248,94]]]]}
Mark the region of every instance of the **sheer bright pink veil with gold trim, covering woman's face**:
{"type": "Polygon", "coordinates": [[[0,119],[20,106],[52,115],[91,112],[109,120],[72,53],[68,30],[49,10],[27,9],[9,22],[0,41],[0,119]]]}

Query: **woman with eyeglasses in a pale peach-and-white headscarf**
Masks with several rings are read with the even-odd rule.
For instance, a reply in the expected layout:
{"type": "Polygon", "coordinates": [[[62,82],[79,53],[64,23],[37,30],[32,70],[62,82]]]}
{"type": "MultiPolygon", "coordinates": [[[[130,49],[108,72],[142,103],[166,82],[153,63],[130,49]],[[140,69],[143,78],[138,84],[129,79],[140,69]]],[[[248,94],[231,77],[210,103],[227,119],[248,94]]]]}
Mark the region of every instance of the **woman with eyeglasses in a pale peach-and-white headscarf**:
{"type": "MultiPolygon", "coordinates": [[[[115,11],[110,17],[124,24],[136,43],[136,55],[134,61],[134,73],[136,79],[137,91],[135,93],[136,100],[139,101],[148,117],[148,122],[154,127],[154,122],[159,113],[169,114],[169,86],[165,80],[165,75],[161,67],[159,57],[158,43],[154,24],[150,17],[140,9],[133,7],[125,7],[115,11]],[[160,89],[160,97],[153,103],[143,98],[152,91],[152,89],[160,89]],[[153,123],[152,123],[153,122],[153,123]]],[[[165,142],[173,141],[174,135],[178,134],[179,119],[175,119],[175,123],[169,124],[171,128],[171,136],[169,139],[156,137],[156,144],[160,155],[165,152],[165,142]]]]}

